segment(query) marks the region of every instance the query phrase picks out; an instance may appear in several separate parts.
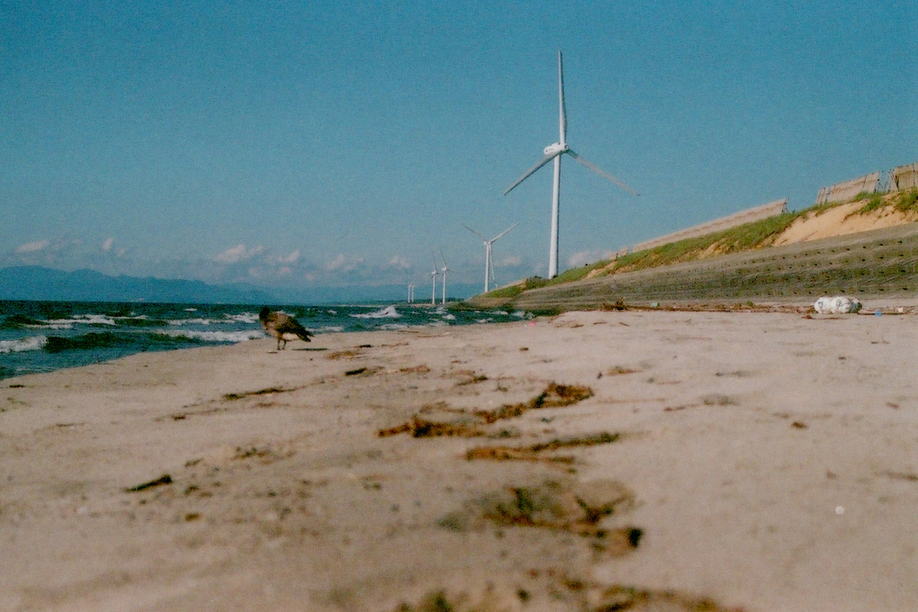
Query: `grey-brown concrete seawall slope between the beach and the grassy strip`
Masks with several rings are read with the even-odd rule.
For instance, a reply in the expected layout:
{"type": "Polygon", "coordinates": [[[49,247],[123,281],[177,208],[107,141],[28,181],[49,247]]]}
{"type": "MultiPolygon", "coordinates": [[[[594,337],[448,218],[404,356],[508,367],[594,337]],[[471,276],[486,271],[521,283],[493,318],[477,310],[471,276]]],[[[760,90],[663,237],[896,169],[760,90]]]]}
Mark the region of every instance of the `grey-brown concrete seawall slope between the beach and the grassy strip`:
{"type": "Polygon", "coordinates": [[[918,223],[531,289],[512,305],[595,308],[649,302],[812,301],[918,295],[918,223]]]}

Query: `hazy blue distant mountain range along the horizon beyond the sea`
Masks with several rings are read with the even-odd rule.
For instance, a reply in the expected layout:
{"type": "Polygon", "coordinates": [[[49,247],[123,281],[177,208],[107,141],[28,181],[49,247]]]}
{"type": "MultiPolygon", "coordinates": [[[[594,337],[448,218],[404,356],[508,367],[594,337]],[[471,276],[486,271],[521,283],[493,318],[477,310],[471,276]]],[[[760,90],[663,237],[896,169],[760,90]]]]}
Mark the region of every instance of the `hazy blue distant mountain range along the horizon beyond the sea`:
{"type": "MultiPolygon", "coordinates": [[[[455,284],[450,295],[477,293],[478,285],[455,284]]],[[[420,290],[420,287],[419,287],[420,290]]],[[[420,297],[419,302],[423,302],[420,297]]],[[[207,284],[148,276],[109,276],[93,270],[64,272],[41,266],[0,268],[0,299],[72,302],[164,302],[177,304],[332,304],[399,301],[401,284],[263,289],[250,284],[207,284]]],[[[439,287],[438,287],[438,301],[439,287]]]]}

